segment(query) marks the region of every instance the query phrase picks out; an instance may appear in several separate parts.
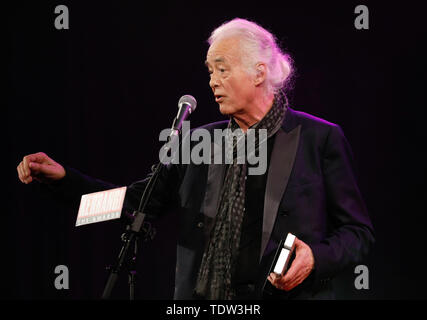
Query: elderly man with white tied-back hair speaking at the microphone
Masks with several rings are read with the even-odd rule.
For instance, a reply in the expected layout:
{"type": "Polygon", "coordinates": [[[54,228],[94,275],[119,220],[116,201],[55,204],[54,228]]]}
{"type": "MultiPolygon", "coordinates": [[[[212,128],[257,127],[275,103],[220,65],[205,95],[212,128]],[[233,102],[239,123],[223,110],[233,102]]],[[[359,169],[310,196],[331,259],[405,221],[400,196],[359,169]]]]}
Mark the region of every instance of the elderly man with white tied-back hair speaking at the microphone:
{"type": "MultiPolygon", "coordinates": [[[[338,125],[287,105],[291,60],[271,33],[234,19],[214,30],[209,44],[209,84],[230,120],[204,128],[266,130],[267,171],[249,175],[249,164],[233,161],[162,172],[148,213],[180,210],[175,298],[333,298],[332,277],[360,262],[374,242],[350,147],[338,125]],[[284,276],[269,274],[288,232],[297,236],[295,259],[284,276]]],[[[114,187],[44,153],[25,156],[18,173],[23,183],[36,179],[69,198],[114,187]]],[[[138,206],[146,183],[128,187],[127,208],[138,206]]]]}

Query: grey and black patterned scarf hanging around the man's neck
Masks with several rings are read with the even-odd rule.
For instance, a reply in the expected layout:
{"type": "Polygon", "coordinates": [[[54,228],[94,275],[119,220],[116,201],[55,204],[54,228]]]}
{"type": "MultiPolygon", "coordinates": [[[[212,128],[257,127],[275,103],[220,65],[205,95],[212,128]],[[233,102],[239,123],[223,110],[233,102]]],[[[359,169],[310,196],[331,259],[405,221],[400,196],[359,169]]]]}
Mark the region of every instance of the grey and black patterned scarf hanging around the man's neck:
{"type": "MultiPolygon", "coordinates": [[[[267,138],[271,137],[279,130],[286,108],[286,96],[283,93],[276,95],[271,109],[251,129],[266,129],[267,138]]],[[[228,128],[233,133],[234,130],[240,129],[233,119],[229,122],[228,128]]],[[[227,131],[230,132],[230,130],[227,131]]],[[[242,135],[243,138],[246,137],[245,134],[242,135]]],[[[255,137],[255,150],[258,151],[259,135],[255,134],[255,137]]],[[[261,141],[261,143],[266,143],[266,141],[261,141]]],[[[239,254],[241,227],[245,214],[247,171],[247,163],[239,164],[237,161],[236,146],[237,143],[232,146],[233,162],[228,165],[226,170],[218,213],[200,265],[195,288],[195,295],[198,298],[231,300],[235,296],[232,288],[232,275],[239,254]]]]}

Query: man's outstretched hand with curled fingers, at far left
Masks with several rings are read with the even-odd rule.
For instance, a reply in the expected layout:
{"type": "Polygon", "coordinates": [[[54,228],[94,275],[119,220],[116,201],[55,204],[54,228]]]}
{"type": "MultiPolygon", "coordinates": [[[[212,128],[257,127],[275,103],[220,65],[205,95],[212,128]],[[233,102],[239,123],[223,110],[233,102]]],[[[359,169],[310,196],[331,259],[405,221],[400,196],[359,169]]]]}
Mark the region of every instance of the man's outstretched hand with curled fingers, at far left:
{"type": "Polygon", "coordinates": [[[53,182],[65,177],[65,169],[43,152],[25,156],[16,168],[19,180],[28,184],[33,180],[53,182]]]}

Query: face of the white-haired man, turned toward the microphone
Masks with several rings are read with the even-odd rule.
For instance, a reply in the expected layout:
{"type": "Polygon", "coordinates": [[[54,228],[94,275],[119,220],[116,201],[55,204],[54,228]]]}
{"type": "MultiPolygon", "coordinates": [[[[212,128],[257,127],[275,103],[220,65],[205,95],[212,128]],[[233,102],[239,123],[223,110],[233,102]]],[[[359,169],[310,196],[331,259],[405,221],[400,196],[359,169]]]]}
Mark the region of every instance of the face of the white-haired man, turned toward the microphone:
{"type": "Polygon", "coordinates": [[[244,69],[237,38],[217,40],[210,46],[206,66],[209,85],[224,115],[244,114],[255,95],[253,77],[244,69]]]}

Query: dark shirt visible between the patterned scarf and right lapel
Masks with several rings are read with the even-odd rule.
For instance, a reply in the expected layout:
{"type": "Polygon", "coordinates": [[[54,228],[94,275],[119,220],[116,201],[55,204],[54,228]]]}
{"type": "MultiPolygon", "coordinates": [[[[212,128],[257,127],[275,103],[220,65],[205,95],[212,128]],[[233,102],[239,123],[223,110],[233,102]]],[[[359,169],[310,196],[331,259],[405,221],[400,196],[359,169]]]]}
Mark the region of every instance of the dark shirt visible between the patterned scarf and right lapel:
{"type": "Polygon", "coordinates": [[[264,197],[274,137],[275,135],[267,140],[267,169],[265,173],[263,175],[246,176],[245,215],[240,236],[239,256],[233,276],[233,284],[238,291],[238,298],[240,295],[246,295],[244,291],[247,290],[247,286],[249,285],[249,288],[252,288],[257,279],[264,216],[264,197]]]}

